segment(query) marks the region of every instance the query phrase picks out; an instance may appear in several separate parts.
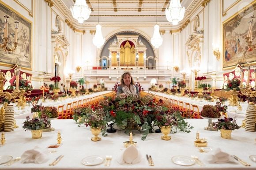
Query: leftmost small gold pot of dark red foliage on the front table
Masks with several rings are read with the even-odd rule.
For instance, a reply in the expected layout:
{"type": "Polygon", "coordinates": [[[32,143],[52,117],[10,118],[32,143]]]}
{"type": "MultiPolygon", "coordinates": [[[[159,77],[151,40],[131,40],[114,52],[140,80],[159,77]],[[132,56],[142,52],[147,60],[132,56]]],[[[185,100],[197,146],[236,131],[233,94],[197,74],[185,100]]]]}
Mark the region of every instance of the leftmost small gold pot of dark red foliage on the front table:
{"type": "Polygon", "coordinates": [[[40,119],[40,118],[32,118],[26,117],[25,122],[23,122],[23,129],[31,130],[32,138],[39,139],[42,137],[42,130],[45,126],[49,125],[50,121],[47,118],[40,119]]]}

